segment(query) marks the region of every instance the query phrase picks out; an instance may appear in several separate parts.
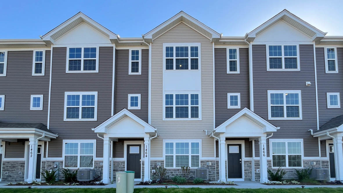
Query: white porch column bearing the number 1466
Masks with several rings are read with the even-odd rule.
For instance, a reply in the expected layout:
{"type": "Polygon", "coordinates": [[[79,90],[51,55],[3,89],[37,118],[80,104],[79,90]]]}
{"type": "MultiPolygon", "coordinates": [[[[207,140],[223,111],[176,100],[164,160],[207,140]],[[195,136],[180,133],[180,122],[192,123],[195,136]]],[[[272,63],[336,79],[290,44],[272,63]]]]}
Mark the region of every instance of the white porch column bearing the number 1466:
{"type": "Polygon", "coordinates": [[[259,137],[260,145],[260,182],[268,182],[267,172],[267,138],[265,136],[259,137]]]}

